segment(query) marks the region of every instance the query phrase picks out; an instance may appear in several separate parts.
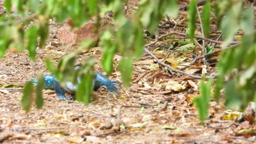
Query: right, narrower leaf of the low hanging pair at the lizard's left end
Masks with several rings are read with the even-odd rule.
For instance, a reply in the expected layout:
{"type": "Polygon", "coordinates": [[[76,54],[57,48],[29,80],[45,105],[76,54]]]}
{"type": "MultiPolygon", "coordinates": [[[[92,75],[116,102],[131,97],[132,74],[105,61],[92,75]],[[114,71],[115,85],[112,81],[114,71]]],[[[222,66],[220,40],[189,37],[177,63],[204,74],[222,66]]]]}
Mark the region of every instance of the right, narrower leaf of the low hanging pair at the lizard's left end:
{"type": "Polygon", "coordinates": [[[44,99],[43,99],[43,88],[44,88],[44,77],[42,74],[40,74],[39,76],[37,76],[37,87],[36,87],[36,107],[37,109],[40,109],[43,105],[44,105],[44,99]]]}

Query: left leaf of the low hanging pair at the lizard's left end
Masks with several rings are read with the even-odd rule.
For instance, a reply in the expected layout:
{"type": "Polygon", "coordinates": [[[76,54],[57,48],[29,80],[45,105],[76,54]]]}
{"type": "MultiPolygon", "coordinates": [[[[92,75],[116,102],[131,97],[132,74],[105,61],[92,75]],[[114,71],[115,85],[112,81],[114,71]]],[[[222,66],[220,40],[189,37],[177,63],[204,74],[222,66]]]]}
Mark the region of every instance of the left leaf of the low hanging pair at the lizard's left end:
{"type": "Polygon", "coordinates": [[[23,110],[28,112],[33,101],[33,82],[27,82],[22,93],[21,106],[23,110]]]}

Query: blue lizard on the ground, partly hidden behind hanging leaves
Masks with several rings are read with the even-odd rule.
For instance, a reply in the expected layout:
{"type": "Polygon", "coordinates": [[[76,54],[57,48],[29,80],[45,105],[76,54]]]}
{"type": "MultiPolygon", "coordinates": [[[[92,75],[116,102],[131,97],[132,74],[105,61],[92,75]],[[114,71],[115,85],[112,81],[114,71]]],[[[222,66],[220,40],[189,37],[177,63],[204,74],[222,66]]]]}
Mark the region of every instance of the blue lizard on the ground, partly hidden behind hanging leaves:
{"type": "MultiPolygon", "coordinates": [[[[73,100],[72,97],[66,97],[65,92],[74,94],[77,91],[77,85],[74,85],[72,82],[65,82],[65,87],[61,87],[59,81],[51,74],[44,74],[44,88],[55,90],[57,95],[57,99],[61,100],[73,100]]],[[[32,81],[33,85],[37,86],[37,79],[30,79],[28,81],[32,81]]],[[[80,77],[78,77],[78,83],[80,82],[80,77]]],[[[104,87],[109,92],[113,92],[115,94],[119,94],[118,88],[115,87],[119,82],[111,81],[106,76],[101,73],[95,72],[95,79],[93,82],[94,91],[97,91],[98,88],[104,87]]]]}

